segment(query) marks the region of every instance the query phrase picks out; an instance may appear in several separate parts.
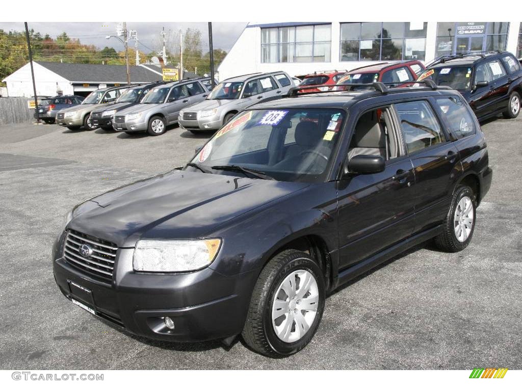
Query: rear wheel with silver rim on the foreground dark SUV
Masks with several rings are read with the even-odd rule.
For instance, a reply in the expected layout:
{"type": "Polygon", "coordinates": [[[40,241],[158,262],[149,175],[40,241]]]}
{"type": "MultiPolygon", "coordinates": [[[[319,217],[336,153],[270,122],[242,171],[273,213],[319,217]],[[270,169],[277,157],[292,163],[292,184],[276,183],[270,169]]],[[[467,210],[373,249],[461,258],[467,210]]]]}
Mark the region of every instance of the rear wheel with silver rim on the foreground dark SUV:
{"type": "Polygon", "coordinates": [[[477,199],[468,186],[460,186],[453,194],[452,203],[443,224],[443,232],[435,237],[437,248],[458,252],[466,248],[473,236],[477,199]]]}

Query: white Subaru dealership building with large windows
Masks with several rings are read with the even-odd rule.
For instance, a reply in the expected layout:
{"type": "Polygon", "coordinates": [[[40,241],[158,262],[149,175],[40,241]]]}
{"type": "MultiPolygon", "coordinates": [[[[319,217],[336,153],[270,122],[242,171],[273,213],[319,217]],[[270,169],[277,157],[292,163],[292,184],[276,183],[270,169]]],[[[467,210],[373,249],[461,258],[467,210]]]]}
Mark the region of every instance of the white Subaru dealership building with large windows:
{"type": "Polygon", "coordinates": [[[279,70],[294,76],[496,50],[522,57],[521,22],[250,22],[218,69],[221,80],[279,70]]]}

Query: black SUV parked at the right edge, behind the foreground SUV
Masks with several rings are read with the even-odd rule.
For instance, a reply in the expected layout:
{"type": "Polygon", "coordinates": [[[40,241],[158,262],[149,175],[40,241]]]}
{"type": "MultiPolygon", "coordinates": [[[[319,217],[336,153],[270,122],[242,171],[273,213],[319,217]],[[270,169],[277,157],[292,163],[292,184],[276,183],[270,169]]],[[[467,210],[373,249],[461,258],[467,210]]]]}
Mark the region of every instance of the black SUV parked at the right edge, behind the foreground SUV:
{"type": "Polygon", "coordinates": [[[425,79],[458,90],[479,121],[500,113],[513,119],[520,112],[522,69],[509,52],[441,56],[428,65],[418,80],[425,79]]]}

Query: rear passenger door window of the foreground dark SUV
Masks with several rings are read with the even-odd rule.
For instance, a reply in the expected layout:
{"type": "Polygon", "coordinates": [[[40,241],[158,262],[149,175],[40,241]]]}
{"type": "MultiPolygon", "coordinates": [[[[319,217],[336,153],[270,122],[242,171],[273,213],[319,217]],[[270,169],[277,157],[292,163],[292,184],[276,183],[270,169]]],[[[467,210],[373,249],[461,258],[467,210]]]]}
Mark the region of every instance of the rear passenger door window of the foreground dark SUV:
{"type": "Polygon", "coordinates": [[[446,141],[435,113],[426,101],[395,104],[408,154],[446,141]]]}

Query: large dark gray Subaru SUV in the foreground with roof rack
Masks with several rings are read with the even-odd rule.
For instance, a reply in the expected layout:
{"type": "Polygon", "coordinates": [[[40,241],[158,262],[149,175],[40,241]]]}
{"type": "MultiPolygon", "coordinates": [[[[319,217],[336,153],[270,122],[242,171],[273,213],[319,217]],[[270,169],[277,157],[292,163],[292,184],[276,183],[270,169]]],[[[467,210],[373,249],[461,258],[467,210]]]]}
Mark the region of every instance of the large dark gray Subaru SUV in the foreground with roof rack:
{"type": "Polygon", "coordinates": [[[301,350],[328,292],[423,241],[471,240],[484,135],[457,91],[426,84],[299,86],[238,113],[186,166],[70,211],[58,287],[137,335],[301,350]]]}

